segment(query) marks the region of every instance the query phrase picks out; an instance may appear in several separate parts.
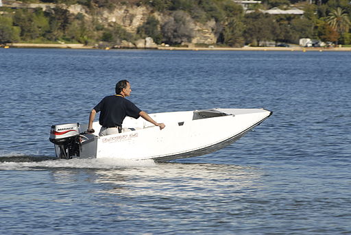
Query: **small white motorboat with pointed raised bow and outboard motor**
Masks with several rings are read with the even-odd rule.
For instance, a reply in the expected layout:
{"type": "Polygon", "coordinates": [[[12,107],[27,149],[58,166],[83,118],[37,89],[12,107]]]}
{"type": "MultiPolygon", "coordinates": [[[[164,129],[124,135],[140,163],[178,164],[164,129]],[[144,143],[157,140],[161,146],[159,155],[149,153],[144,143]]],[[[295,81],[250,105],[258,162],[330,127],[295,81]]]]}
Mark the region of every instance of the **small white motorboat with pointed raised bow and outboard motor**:
{"type": "Polygon", "coordinates": [[[165,129],[144,119],[126,117],[124,132],[98,136],[101,126],[93,123],[93,134],[87,125],[69,123],[52,125],[50,141],[58,158],[118,158],[165,162],[201,156],[217,151],[241,138],[272,114],[264,109],[215,108],[184,112],[149,114],[165,129]]]}

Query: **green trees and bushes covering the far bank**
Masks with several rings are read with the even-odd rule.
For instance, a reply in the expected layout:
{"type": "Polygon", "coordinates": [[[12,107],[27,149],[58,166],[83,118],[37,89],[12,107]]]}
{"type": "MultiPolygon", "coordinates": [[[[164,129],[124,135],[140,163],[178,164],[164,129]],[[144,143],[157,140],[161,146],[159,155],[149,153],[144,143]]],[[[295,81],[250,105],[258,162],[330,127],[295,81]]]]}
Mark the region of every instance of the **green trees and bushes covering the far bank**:
{"type": "MultiPolygon", "coordinates": [[[[24,0],[33,2],[37,0],[24,0]]],[[[122,40],[134,42],[152,37],[158,44],[180,45],[191,42],[194,25],[215,21],[213,32],[218,45],[242,47],[258,46],[264,41],[297,43],[299,38],[316,38],[324,42],[351,44],[348,0],[316,0],[306,3],[297,0],[263,0],[252,5],[250,13],[232,0],[41,0],[40,3],[58,3],[56,8],[36,9],[0,8],[0,43],[6,42],[79,42],[86,45],[105,42],[118,45],[122,40]],[[84,5],[91,17],[71,14],[59,4],[84,5]],[[117,23],[103,24],[97,9],[113,10],[119,5],[147,5],[152,12],[165,14],[160,22],[153,14],[138,27],[135,34],[117,23]],[[304,10],[303,16],[292,14],[271,15],[261,10],[273,7],[282,10],[291,5],[304,10]]]]}

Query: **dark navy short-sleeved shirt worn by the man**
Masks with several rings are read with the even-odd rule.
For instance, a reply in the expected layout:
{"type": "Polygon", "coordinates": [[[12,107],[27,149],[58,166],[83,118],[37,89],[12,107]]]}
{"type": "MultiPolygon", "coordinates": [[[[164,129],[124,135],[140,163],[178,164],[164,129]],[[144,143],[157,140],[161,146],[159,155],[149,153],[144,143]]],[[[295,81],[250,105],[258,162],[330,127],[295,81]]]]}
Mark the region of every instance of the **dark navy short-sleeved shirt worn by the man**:
{"type": "Polygon", "coordinates": [[[125,116],[138,119],[141,112],[134,103],[119,95],[105,97],[94,107],[94,110],[101,111],[99,123],[103,127],[121,127],[125,116]]]}

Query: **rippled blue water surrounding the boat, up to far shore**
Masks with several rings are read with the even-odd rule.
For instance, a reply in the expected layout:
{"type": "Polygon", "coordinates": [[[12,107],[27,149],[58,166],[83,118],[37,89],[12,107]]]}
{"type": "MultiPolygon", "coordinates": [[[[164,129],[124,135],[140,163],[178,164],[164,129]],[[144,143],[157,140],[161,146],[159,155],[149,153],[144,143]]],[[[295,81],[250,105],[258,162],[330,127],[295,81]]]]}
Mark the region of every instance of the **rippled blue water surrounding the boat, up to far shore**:
{"type": "Polygon", "coordinates": [[[0,234],[351,234],[351,54],[0,49],[0,234]],[[54,160],[128,79],[149,113],[274,112],[236,143],[156,164],[54,160]]]}

